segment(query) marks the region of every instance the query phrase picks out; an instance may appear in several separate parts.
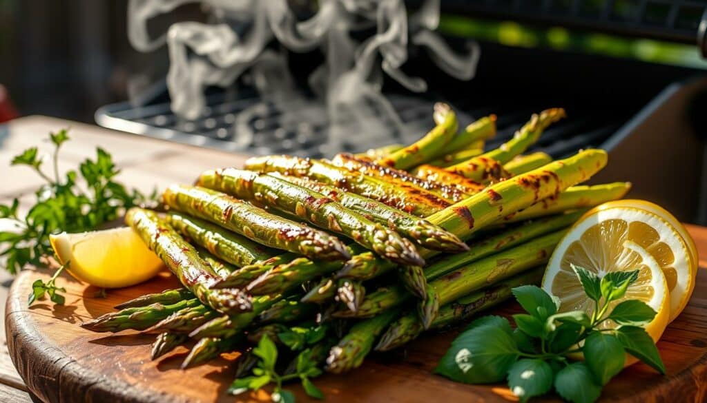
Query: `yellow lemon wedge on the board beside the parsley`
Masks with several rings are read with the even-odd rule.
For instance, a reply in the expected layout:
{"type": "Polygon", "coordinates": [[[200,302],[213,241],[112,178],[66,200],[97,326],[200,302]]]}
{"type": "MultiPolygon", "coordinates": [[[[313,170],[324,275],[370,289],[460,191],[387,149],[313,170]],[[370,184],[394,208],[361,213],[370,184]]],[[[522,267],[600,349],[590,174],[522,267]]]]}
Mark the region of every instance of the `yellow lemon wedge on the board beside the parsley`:
{"type": "Polygon", "coordinates": [[[50,235],[59,262],[76,279],[96,287],[128,287],[153,277],[162,261],[129,227],[50,235]]]}

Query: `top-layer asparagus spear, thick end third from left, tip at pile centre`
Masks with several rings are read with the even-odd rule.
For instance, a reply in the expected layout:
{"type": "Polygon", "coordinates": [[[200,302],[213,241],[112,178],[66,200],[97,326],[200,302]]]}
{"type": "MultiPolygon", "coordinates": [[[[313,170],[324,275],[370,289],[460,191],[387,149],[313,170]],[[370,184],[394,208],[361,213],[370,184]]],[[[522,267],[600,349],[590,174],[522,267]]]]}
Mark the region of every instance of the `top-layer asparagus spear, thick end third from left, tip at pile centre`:
{"type": "Polygon", "coordinates": [[[395,231],[303,186],[243,169],[212,169],[199,176],[199,186],[288,212],[312,224],[348,236],[361,246],[401,264],[423,265],[415,247],[395,231]]]}

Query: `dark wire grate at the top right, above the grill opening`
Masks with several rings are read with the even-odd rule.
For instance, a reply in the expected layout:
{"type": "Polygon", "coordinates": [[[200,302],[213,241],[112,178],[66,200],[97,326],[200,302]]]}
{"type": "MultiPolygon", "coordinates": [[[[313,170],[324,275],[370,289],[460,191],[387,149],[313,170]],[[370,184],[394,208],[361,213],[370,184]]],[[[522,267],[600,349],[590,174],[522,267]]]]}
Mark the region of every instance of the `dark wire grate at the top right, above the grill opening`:
{"type": "Polygon", "coordinates": [[[446,0],[445,11],[696,42],[706,0],[446,0]]]}

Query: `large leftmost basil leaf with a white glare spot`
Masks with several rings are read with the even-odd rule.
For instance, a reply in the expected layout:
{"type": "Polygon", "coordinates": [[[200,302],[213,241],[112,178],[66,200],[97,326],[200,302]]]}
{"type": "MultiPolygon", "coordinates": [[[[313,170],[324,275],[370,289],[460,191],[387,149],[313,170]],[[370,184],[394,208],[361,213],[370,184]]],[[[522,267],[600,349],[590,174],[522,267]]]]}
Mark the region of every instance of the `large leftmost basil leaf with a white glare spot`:
{"type": "Polygon", "coordinates": [[[462,383],[494,383],[506,378],[518,359],[511,332],[481,325],[462,332],[440,360],[435,373],[462,383]]]}

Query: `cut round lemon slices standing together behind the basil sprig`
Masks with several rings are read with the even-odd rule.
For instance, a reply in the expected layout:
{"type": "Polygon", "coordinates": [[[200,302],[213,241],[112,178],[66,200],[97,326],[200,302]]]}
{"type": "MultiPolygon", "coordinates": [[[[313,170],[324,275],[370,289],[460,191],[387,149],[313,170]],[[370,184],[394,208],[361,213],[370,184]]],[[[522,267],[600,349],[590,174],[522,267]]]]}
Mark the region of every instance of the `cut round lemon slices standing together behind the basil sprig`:
{"type": "MultiPolygon", "coordinates": [[[[659,255],[663,261],[668,260],[662,255],[667,253],[665,248],[656,246],[660,242],[670,243],[676,250],[682,245],[679,234],[669,230],[670,226],[644,210],[623,207],[592,210],[580,218],[560,241],[549,260],[542,287],[560,299],[560,311],[581,310],[591,314],[594,301],[586,296],[570,263],[595,272],[599,277],[608,272],[639,270],[636,282],[622,299],[612,301],[609,310],[627,299],[645,302],[656,312],[655,318],[645,325],[645,331],[658,341],[672,314],[670,277],[665,273],[672,275],[672,285],[677,289],[677,270],[670,270],[670,267],[682,265],[681,270],[687,273],[686,287],[694,286],[684,255],[681,262],[675,253],[670,266],[661,265],[655,258],[659,255]],[[656,236],[658,230],[655,228],[662,231],[662,237],[656,236]]],[[[607,321],[602,325],[613,327],[615,324],[607,321]]]]}

